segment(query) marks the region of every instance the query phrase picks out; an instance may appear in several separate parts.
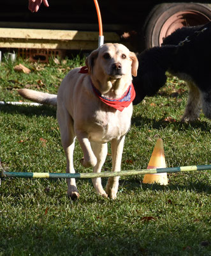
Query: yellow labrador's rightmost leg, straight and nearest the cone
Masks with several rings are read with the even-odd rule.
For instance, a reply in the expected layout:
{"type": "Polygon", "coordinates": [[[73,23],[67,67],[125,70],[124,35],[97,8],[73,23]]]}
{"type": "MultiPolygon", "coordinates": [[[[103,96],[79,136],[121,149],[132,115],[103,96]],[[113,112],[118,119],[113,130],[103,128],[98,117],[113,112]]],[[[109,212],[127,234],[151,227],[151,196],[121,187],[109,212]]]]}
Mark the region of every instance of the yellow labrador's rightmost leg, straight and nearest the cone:
{"type": "MultiPolygon", "coordinates": [[[[122,136],[117,139],[113,139],[111,141],[112,146],[112,172],[120,172],[121,169],[121,161],[122,161],[122,152],[124,147],[124,138],[122,136]]],[[[108,179],[108,183],[106,185],[106,193],[111,199],[115,199],[117,197],[117,191],[119,187],[119,176],[110,177],[108,179]]]]}

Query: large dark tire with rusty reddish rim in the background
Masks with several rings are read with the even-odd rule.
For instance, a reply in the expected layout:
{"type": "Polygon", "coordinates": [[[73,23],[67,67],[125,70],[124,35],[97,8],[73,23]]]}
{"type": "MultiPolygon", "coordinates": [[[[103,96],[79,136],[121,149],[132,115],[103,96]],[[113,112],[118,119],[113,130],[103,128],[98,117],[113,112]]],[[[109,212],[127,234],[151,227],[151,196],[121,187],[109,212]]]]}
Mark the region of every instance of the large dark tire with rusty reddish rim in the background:
{"type": "Polygon", "coordinates": [[[183,26],[196,26],[211,20],[211,4],[159,4],[150,12],[144,26],[145,47],[159,46],[163,38],[183,26]]]}

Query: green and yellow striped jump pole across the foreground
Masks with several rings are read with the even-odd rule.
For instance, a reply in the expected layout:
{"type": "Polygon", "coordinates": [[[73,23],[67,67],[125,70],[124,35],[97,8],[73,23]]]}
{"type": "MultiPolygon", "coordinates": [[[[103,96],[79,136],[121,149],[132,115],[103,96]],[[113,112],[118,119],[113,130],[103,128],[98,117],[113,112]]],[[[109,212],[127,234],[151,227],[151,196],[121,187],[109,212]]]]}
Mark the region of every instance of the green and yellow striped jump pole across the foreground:
{"type": "Polygon", "coordinates": [[[193,165],[193,166],[178,166],[170,168],[154,168],[154,169],[138,169],[127,170],[122,172],[101,172],[101,173],[38,173],[38,172],[1,172],[1,178],[16,177],[16,178],[45,178],[45,179],[92,179],[105,178],[115,176],[129,176],[155,173],[174,173],[174,172],[194,172],[202,170],[211,170],[211,164],[193,165]]]}

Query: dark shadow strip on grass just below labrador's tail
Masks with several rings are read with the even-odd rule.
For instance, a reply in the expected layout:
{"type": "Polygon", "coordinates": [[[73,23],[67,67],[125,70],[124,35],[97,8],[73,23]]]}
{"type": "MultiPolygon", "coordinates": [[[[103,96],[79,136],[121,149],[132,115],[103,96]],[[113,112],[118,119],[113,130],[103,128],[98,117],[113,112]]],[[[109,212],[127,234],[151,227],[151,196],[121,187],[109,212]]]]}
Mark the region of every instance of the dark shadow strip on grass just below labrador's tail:
{"type": "Polygon", "coordinates": [[[56,108],[54,106],[19,106],[19,105],[0,105],[0,112],[8,114],[20,114],[25,116],[54,116],[56,117],[56,108]]]}

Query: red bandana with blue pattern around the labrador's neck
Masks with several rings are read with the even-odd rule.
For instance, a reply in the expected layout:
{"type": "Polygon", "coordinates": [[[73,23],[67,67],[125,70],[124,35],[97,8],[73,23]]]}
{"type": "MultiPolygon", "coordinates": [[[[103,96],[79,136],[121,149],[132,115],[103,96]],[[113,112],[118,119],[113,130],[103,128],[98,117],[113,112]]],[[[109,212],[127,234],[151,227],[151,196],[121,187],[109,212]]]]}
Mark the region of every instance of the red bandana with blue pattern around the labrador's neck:
{"type": "MultiPolygon", "coordinates": [[[[82,73],[82,74],[87,74],[87,72],[88,72],[87,67],[82,67],[79,71],[79,73],[82,73]]],[[[124,108],[127,108],[129,104],[131,104],[131,102],[135,99],[135,96],[136,96],[136,92],[132,83],[131,85],[128,86],[127,91],[119,99],[110,99],[102,96],[101,92],[99,92],[98,89],[94,87],[94,84],[92,84],[92,89],[96,94],[96,96],[98,97],[98,99],[103,101],[108,106],[115,108],[119,111],[122,111],[124,108]]]]}

